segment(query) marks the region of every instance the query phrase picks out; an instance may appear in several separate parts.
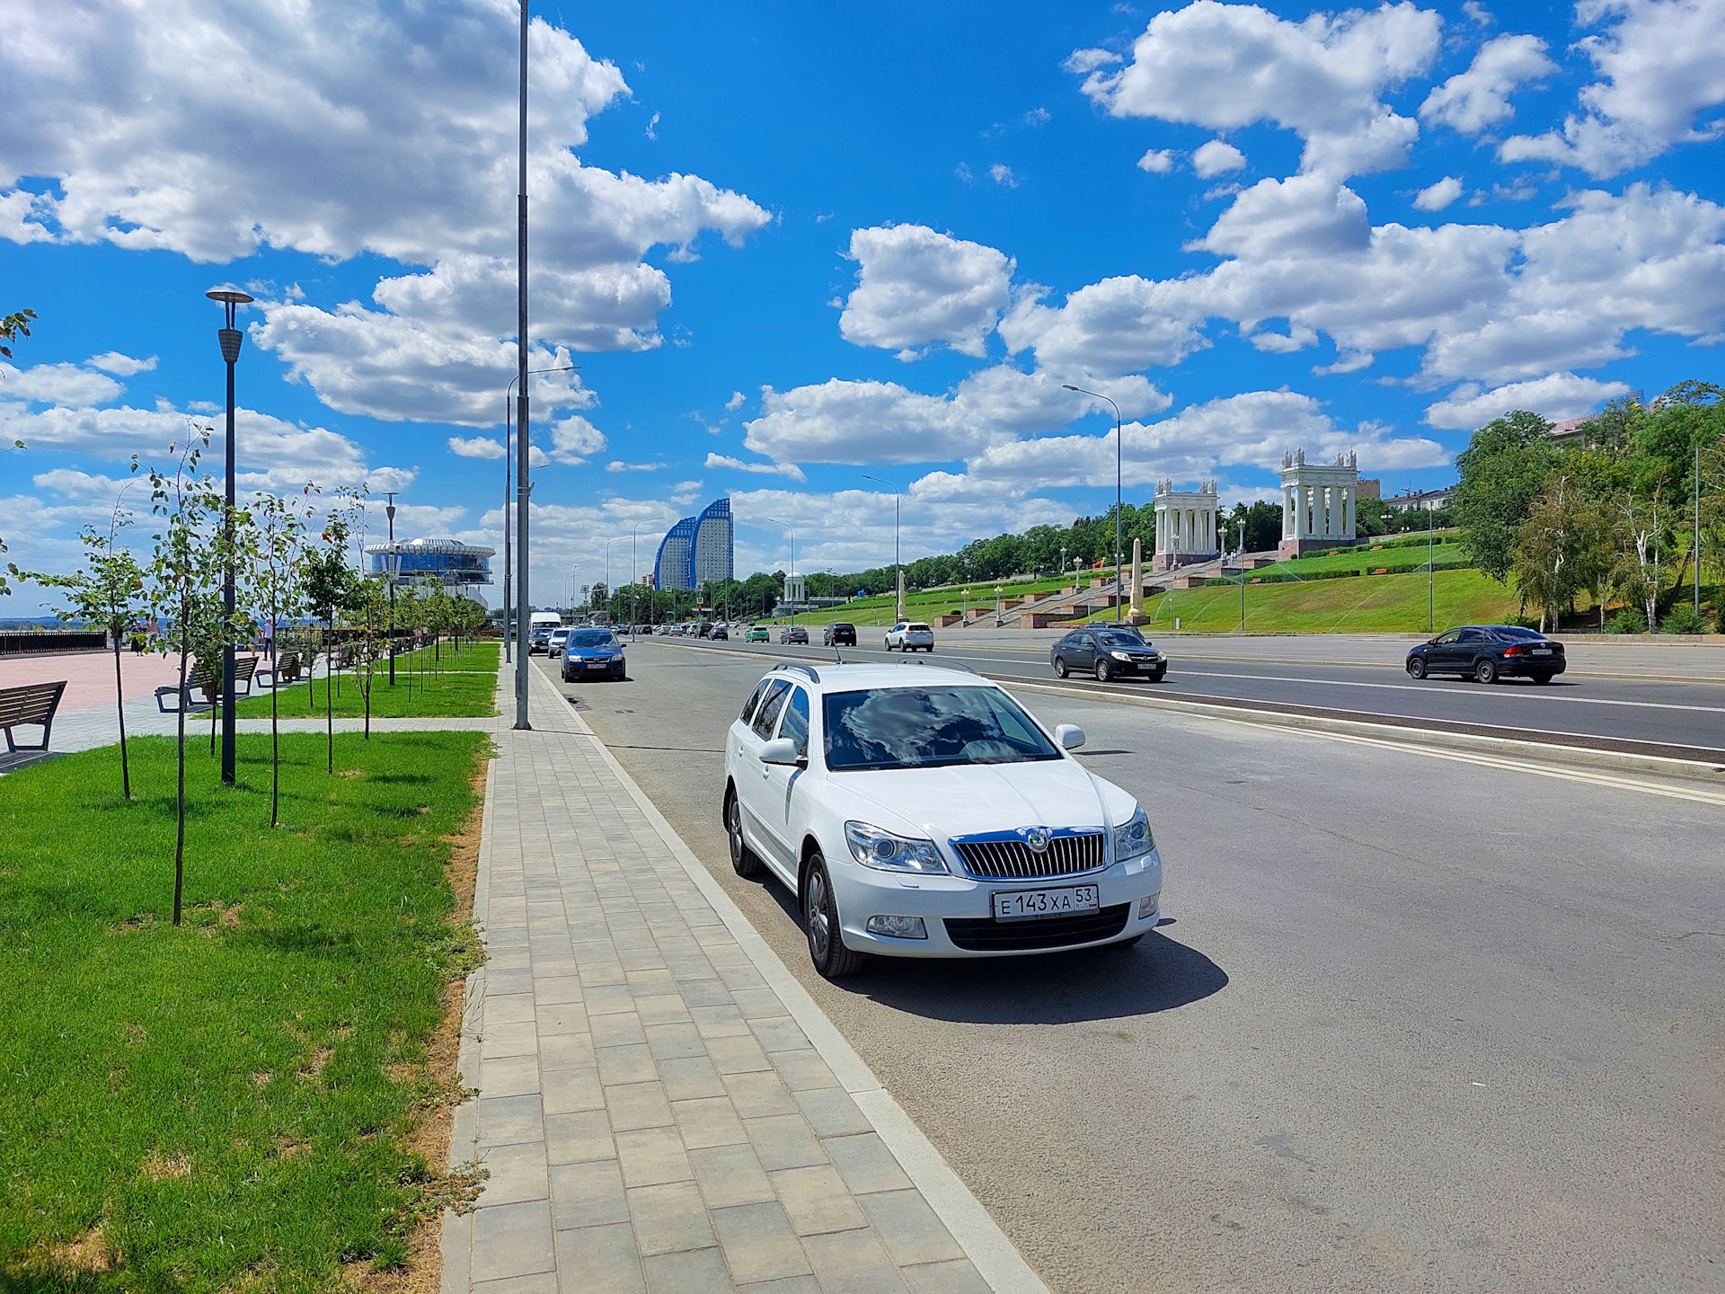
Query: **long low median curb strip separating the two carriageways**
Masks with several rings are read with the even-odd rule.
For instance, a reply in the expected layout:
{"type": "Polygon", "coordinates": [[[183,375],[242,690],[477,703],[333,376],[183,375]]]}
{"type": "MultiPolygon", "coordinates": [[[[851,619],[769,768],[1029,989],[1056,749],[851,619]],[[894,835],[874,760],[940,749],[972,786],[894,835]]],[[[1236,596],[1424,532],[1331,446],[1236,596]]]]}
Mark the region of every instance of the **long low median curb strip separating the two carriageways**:
{"type": "MultiPolygon", "coordinates": [[[[730,656],[747,656],[756,661],[764,659],[761,652],[749,652],[737,647],[695,647],[693,644],[666,642],[666,647],[681,647],[683,650],[697,652],[728,652],[730,656]]],[[[768,664],[778,659],[802,659],[802,657],[771,657],[768,664]]],[[[937,657],[926,657],[933,663],[937,657]]],[[[809,661],[819,666],[819,661],[809,661]]],[[[1054,683],[1026,680],[1016,675],[992,675],[980,669],[971,673],[988,678],[995,683],[1002,683],[1009,688],[1023,688],[1028,692],[1042,692],[1045,695],[1057,697],[1107,697],[1109,700],[1125,700],[1132,706],[1144,706],[1147,709],[1164,709],[1176,714],[1192,714],[1194,718],[1204,719],[1226,719],[1232,723],[1256,723],[1266,728],[1306,728],[1311,732],[1330,732],[1346,733],[1351,737],[1371,737],[1378,740],[1390,740],[1401,745],[1421,744],[1435,745],[1449,751],[1466,751],[1471,754],[1490,754],[1499,757],[1520,757],[1520,759],[1542,759],[1546,763],[1565,763],[1578,764],[1582,768],[1609,768],[1616,771],[1632,773],[1654,773],[1658,776],[1677,776],[1685,780],[1708,782],[1718,787],[1725,787],[1725,763],[1703,763],[1694,759],[1672,759],[1666,756],[1644,756],[1628,754],[1623,751],[1589,751],[1578,745],[1559,745],[1552,742],[1534,742],[1534,740],[1516,740],[1513,737],[1485,737],[1480,733],[1456,733],[1446,732],[1442,728],[1425,728],[1397,723],[1371,723],[1370,719],[1339,719],[1321,714],[1285,714],[1282,711],[1270,709],[1251,709],[1247,706],[1209,706],[1202,700],[1175,700],[1171,697],[1157,697],[1154,694],[1125,690],[1125,688],[1104,688],[1094,685],[1075,687],[1071,683],[1054,683]]]]}

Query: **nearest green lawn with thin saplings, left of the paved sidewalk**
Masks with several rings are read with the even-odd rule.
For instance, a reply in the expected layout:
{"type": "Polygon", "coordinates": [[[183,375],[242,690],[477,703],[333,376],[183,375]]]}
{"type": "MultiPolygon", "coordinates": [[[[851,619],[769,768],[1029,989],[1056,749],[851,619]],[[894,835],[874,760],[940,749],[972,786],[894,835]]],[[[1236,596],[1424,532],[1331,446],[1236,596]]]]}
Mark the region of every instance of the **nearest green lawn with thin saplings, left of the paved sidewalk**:
{"type": "Polygon", "coordinates": [[[283,737],[278,830],[267,749],[223,790],[190,744],[179,928],[169,738],[131,742],[129,804],[114,747],[0,778],[0,1289],[329,1289],[436,1206],[407,1135],[476,954],[443,837],[486,738],[338,735],[326,776],[283,737]],[[95,1228],[114,1270],[55,1258],[95,1228]]]}

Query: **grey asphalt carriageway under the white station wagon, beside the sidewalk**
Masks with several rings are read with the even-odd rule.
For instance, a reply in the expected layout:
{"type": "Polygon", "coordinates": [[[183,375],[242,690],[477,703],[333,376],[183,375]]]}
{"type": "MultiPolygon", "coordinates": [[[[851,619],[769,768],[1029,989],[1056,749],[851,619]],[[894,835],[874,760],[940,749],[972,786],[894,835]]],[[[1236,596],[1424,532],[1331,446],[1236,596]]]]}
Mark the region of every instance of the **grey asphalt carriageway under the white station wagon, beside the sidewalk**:
{"type": "Polygon", "coordinates": [[[831,985],[726,861],[761,664],[630,659],[564,692],[1059,1294],[1725,1289],[1725,807],[1026,694],[1176,921],[831,985]]]}

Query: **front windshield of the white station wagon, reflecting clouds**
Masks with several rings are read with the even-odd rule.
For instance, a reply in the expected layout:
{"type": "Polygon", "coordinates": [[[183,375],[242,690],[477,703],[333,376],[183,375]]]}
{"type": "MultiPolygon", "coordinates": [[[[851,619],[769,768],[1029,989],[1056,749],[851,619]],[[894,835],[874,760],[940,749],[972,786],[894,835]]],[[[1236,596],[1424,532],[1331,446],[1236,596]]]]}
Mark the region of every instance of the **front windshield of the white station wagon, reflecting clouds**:
{"type": "Polygon", "coordinates": [[[830,692],[821,714],[826,768],[835,773],[1061,757],[1030,716],[992,687],[830,692]]]}

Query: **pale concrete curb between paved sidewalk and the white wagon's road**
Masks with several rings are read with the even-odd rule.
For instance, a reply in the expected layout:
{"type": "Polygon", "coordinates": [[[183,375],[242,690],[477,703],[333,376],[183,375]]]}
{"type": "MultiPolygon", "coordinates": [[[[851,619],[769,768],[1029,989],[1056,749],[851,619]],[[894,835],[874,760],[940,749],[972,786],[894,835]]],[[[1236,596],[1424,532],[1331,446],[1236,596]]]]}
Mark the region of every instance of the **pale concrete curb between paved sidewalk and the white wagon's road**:
{"type": "MultiPolygon", "coordinates": [[[[735,654],[754,656],[754,652],[735,654]]],[[[530,669],[530,678],[535,685],[550,688],[559,702],[564,700],[564,694],[542,671],[530,669]]],[[[593,740],[593,747],[623,783],[623,788],[628,790],[637,807],[645,814],[666,849],[683,864],[683,871],[688,873],[688,878],[700,890],[702,897],[712,904],[712,911],[730,928],[731,937],[749,954],[749,959],[761,971],[761,977],[773,992],[778,994],[780,1001],[785,1002],[785,1009],[790,1011],[792,1018],[856,1101],[857,1108],[875,1125],[875,1132],[887,1144],[887,1149],[899,1159],[913,1185],[923,1194],[930,1208],[935,1209],[940,1222],[952,1234],[952,1239],[957,1241],[959,1247],[964,1249],[964,1256],[969,1258],[988,1287],[997,1291],[997,1294],[1049,1294],[1049,1287],[1042,1284],[1042,1278],[1025,1261],[1023,1254],[1018,1253],[1018,1247],[1000,1230],[999,1223],[971,1194],[959,1175],[952,1172],[952,1166],[935,1149],[935,1144],[923,1135],[923,1130],[916,1127],[897,1099],[894,1099],[892,1092],[881,1085],[875,1071],[869,1070],[868,1061],[845,1040],[845,1035],[838,1032],[838,1027],[826,1016],[819,1002],[809,996],[809,990],[780,961],[778,954],[731,901],[731,895],[712,878],[706,864],[695,857],[695,852],[683,842],[683,837],[659,813],[659,807],[649,799],[647,792],[635,783],[635,778],[630,776],[628,769],[623,768],[604,740],[600,740],[599,733],[586,725],[586,719],[573,706],[568,707],[568,716],[574,730],[593,740]]]]}

